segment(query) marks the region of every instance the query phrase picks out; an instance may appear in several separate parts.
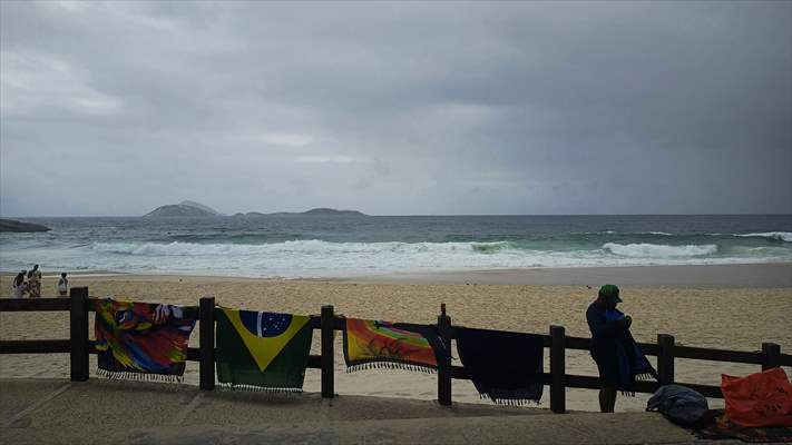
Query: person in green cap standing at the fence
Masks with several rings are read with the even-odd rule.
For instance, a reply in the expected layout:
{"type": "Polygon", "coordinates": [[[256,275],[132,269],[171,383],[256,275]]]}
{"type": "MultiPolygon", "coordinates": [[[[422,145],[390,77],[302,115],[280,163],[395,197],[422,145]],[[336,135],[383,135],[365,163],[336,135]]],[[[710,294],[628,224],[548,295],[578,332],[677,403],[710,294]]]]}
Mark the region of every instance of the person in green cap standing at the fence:
{"type": "Polygon", "coordinates": [[[633,323],[629,316],[609,320],[608,310],[622,303],[618,287],[605,285],[599,288],[597,299],[588,306],[586,320],[591,330],[591,357],[599,370],[599,411],[613,413],[616,407],[616,386],[619,383],[617,340],[633,323]]]}

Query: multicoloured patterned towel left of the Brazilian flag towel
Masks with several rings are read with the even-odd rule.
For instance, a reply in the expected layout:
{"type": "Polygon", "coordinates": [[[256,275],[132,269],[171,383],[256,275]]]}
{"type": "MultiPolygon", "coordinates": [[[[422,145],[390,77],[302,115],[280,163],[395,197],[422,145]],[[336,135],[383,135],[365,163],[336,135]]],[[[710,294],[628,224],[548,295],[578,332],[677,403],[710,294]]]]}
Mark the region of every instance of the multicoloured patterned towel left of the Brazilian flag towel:
{"type": "Polygon", "coordinates": [[[98,374],[180,382],[195,322],[179,306],[97,300],[94,333],[98,374]]]}

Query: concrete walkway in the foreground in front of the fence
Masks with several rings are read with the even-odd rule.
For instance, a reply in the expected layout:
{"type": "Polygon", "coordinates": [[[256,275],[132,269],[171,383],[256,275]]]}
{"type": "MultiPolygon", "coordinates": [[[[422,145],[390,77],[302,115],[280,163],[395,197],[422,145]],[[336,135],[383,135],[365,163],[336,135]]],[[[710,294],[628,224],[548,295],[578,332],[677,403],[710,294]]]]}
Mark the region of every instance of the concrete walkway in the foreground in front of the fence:
{"type": "MultiPolygon", "coordinates": [[[[653,413],[201,392],[91,379],[0,380],[3,444],[697,444],[653,413]]],[[[718,441],[718,444],[739,443],[718,441]]]]}

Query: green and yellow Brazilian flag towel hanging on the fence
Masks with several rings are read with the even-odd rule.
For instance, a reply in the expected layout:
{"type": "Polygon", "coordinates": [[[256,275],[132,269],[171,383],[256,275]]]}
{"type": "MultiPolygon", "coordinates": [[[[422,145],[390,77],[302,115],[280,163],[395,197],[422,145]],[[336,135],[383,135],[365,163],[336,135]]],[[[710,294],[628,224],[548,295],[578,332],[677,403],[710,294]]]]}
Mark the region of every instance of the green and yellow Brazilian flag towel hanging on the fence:
{"type": "Polygon", "coordinates": [[[302,392],[313,338],[309,316],[221,308],[215,317],[221,386],[302,392]]]}

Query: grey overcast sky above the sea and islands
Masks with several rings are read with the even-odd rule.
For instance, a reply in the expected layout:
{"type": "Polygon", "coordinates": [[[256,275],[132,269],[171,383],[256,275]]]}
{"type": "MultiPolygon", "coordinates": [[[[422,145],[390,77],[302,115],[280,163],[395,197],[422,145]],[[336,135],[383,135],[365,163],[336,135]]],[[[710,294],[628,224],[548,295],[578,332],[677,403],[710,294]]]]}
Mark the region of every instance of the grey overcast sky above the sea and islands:
{"type": "Polygon", "coordinates": [[[792,212],[792,2],[0,2],[0,215],[792,212]]]}

